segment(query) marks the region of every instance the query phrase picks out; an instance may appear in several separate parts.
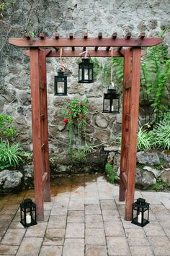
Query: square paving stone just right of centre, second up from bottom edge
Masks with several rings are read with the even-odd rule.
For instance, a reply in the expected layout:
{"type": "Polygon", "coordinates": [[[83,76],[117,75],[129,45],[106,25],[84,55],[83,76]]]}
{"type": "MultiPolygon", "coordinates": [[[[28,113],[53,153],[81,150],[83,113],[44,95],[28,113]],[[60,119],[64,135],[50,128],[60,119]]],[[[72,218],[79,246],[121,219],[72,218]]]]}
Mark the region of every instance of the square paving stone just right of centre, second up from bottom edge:
{"type": "Polygon", "coordinates": [[[86,229],[85,244],[105,245],[106,239],[105,239],[104,229],[86,229]]]}

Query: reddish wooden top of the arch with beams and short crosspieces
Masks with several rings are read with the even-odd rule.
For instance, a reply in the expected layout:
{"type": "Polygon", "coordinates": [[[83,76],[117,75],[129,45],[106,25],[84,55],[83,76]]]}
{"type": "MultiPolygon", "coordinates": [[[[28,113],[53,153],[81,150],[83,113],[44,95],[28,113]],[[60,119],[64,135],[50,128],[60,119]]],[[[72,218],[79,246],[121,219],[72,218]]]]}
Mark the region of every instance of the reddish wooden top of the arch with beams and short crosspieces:
{"type": "MultiPolygon", "coordinates": [[[[9,38],[9,43],[19,47],[54,48],[55,51],[46,50],[47,57],[59,57],[61,47],[64,50],[62,57],[79,57],[82,51],[86,51],[86,47],[94,48],[88,50],[91,57],[110,57],[111,51],[109,51],[109,48],[117,47],[112,51],[112,56],[122,57],[125,54],[123,47],[156,46],[162,43],[162,38],[147,38],[145,33],[140,33],[138,38],[132,38],[131,33],[127,33],[123,38],[117,37],[117,33],[113,33],[110,38],[103,38],[101,32],[98,33],[97,38],[89,38],[87,33],[84,33],[82,38],[74,38],[73,33],[69,33],[67,38],[60,37],[58,33],[54,33],[53,38],[46,37],[44,33],[40,33],[38,38],[32,38],[26,33],[24,38],[9,38]]],[[[141,56],[145,54],[145,51],[141,52],[141,56]]],[[[24,55],[30,56],[30,51],[24,51],[24,55]]]]}

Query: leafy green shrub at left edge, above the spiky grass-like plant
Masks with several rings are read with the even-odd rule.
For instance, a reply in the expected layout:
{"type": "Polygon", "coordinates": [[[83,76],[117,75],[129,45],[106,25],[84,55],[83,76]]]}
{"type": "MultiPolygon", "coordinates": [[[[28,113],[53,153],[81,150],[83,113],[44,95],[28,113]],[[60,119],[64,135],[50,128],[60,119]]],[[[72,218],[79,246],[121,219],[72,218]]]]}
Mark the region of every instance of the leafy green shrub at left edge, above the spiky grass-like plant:
{"type": "Polygon", "coordinates": [[[0,114],[0,136],[1,137],[14,137],[17,135],[17,129],[12,125],[14,118],[0,114]]]}

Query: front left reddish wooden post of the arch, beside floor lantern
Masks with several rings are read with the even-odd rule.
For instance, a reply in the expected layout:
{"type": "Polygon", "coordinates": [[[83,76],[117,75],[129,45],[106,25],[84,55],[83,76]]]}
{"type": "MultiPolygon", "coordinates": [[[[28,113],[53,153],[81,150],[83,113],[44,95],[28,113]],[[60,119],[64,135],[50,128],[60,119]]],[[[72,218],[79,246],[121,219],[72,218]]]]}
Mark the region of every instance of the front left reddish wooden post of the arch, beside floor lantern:
{"type": "Polygon", "coordinates": [[[44,219],[44,208],[40,129],[40,67],[38,48],[30,48],[30,80],[32,98],[32,141],[34,155],[35,204],[37,205],[37,220],[42,221],[44,219]]]}

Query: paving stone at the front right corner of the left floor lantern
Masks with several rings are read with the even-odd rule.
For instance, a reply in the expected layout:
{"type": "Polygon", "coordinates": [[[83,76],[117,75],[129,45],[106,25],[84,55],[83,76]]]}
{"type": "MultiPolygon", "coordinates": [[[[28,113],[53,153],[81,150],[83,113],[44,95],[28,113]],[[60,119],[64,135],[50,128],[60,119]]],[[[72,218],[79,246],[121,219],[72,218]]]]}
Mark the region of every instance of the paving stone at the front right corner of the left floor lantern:
{"type": "Polygon", "coordinates": [[[45,230],[47,228],[48,223],[47,222],[37,222],[37,225],[30,226],[29,229],[27,229],[26,233],[24,234],[25,237],[27,236],[38,236],[43,237],[45,235],[45,230]]]}

